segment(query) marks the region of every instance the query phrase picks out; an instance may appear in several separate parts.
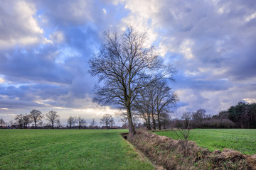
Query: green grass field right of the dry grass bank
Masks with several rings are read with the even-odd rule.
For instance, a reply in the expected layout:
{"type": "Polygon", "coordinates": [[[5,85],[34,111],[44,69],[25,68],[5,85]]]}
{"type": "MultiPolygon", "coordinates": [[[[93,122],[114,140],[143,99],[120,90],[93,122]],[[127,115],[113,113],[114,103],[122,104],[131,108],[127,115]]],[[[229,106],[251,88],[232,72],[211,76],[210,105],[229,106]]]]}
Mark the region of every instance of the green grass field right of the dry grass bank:
{"type": "MultiPolygon", "coordinates": [[[[158,131],[156,134],[177,140],[173,131],[158,131]]],[[[195,129],[190,132],[189,140],[198,146],[207,147],[211,152],[215,149],[235,149],[244,154],[256,154],[255,129],[195,129]]]]}

